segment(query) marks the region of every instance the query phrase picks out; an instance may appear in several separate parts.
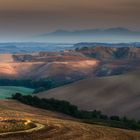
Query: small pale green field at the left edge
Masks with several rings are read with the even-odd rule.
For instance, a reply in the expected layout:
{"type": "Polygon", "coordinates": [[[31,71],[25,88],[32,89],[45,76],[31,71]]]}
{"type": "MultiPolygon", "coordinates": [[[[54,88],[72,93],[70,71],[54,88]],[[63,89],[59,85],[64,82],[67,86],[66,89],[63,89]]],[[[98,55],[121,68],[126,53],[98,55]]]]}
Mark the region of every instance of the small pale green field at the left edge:
{"type": "Polygon", "coordinates": [[[17,86],[0,86],[0,99],[11,97],[12,94],[21,93],[23,95],[32,94],[34,89],[17,86]]]}

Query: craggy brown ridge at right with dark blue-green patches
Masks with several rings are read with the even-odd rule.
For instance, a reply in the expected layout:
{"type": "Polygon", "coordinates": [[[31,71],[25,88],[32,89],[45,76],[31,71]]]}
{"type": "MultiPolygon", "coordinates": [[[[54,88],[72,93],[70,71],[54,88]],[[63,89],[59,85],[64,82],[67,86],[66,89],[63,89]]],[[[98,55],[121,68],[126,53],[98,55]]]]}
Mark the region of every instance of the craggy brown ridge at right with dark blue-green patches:
{"type": "Polygon", "coordinates": [[[140,48],[138,47],[82,47],[77,48],[77,52],[80,52],[86,56],[101,59],[101,60],[109,60],[109,59],[140,59],[140,48]]]}

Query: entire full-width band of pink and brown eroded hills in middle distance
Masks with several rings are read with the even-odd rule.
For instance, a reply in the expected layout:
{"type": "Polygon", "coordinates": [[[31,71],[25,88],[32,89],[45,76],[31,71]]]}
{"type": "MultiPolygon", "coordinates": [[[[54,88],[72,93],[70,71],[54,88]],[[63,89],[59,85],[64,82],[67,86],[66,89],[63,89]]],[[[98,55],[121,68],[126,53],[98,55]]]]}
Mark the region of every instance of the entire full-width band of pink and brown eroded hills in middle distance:
{"type": "Polygon", "coordinates": [[[76,81],[124,74],[140,66],[140,48],[84,47],[76,51],[0,54],[0,78],[76,81]]]}

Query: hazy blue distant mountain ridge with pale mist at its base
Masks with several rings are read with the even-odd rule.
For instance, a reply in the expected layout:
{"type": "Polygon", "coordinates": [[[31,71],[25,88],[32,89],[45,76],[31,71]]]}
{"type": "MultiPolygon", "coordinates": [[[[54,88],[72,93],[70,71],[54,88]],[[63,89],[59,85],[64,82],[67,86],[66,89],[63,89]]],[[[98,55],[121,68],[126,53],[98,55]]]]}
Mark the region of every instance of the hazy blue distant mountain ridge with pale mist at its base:
{"type": "Polygon", "coordinates": [[[108,29],[56,30],[39,35],[36,39],[50,42],[139,42],[140,32],[117,27],[108,29]]]}

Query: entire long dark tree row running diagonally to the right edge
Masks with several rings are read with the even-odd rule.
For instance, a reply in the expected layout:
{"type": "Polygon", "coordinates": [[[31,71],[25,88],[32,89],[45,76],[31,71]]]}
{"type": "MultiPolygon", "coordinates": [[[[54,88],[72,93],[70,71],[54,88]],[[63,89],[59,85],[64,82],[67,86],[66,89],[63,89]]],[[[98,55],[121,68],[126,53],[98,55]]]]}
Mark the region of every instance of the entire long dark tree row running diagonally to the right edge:
{"type": "Polygon", "coordinates": [[[60,101],[56,99],[40,99],[36,96],[23,96],[20,93],[12,95],[12,99],[18,100],[24,104],[31,105],[38,108],[43,108],[52,111],[58,111],[68,114],[72,117],[82,119],[87,123],[99,123],[107,126],[140,130],[140,122],[127,119],[126,117],[120,118],[119,116],[107,116],[102,114],[101,111],[84,111],[79,110],[77,106],[70,104],[67,101],[60,101]]]}

